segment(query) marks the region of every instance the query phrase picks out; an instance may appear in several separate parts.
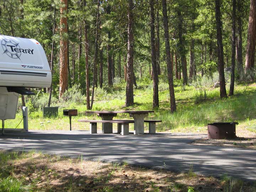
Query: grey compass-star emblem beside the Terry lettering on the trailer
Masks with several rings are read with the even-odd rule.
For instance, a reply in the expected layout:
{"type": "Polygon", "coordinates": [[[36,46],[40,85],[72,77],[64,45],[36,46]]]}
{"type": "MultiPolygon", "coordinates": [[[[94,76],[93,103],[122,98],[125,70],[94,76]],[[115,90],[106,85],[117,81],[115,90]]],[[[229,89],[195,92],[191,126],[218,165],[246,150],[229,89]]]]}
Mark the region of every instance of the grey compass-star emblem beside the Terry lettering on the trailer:
{"type": "Polygon", "coordinates": [[[12,59],[20,59],[21,53],[14,51],[14,49],[20,49],[19,43],[11,39],[2,39],[1,44],[6,55],[12,59]]]}

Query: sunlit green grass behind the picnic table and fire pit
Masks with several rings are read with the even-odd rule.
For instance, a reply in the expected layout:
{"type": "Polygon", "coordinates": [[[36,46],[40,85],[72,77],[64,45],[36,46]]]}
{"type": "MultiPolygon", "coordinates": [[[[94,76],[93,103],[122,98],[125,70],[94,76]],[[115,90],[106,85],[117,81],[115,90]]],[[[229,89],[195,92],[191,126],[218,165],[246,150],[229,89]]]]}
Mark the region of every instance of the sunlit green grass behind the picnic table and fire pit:
{"type": "MultiPolygon", "coordinates": [[[[161,119],[162,123],[157,124],[158,131],[195,131],[198,127],[205,127],[207,123],[222,121],[239,123],[247,123],[248,129],[256,132],[256,127],[251,121],[256,118],[256,86],[236,85],[235,95],[232,97],[220,99],[219,88],[206,89],[207,98],[198,98],[199,90],[193,86],[176,86],[175,98],[177,111],[170,113],[170,96],[167,84],[160,83],[161,91],[159,91],[159,108],[155,109],[155,113],[149,114],[149,119],[161,119]],[[249,122],[249,123],[248,123],[249,122]]],[[[94,101],[94,111],[100,110],[152,110],[153,90],[152,86],[146,86],[143,82],[138,81],[138,89],[134,89],[134,102],[132,107],[125,107],[125,87],[124,84],[118,84],[112,89],[98,89],[96,91],[96,100],[94,101]]],[[[228,89],[228,86],[227,86],[228,89]]],[[[228,92],[228,90],[227,90],[228,92]]],[[[86,103],[77,104],[74,102],[59,103],[58,118],[43,118],[42,111],[36,110],[29,115],[29,129],[69,129],[69,118],[63,117],[62,110],[64,108],[78,109],[79,116],[73,117],[74,129],[89,129],[89,125],[78,123],[81,118],[99,119],[96,115],[85,116],[86,103]],[[65,106],[65,107],[64,107],[65,106]]],[[[116,118],[129,118],[128,114],[118,114],[116,118]]],[[[6,128],[15,128],[21,121],[22,114],[18,112],[16,119],[6,120],[6,128]]],[[[22,128],[21,123],[17,128],[22,128]]],[[[204,128],[205,129],[205,128],[204,128]]]]}

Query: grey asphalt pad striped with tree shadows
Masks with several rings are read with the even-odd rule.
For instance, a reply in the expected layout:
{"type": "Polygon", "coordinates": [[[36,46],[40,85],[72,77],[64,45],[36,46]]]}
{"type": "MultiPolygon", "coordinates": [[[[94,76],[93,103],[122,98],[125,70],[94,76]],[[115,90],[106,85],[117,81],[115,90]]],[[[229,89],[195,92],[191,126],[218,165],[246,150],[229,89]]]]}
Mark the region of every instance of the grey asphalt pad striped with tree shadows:
{"type": "Polygon", "coordinates": [[[89,134],[87,131],[34,131],[0,137],[5,150],[39,150],[85,159],[125,161],[129,164],[186,171],[193,165],[203,175],[227,174],[255,181],[256,151],[191,145],[206,135],[193,134],[89,134]]]}

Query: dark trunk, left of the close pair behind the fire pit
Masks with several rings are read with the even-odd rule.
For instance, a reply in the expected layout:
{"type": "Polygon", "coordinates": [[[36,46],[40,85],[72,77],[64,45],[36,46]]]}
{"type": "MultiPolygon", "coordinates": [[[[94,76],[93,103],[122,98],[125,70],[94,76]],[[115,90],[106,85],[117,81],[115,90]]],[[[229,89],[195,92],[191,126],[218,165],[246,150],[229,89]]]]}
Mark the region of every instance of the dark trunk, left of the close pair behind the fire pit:
{"type": "Polygon", "coordinates": [[[218,45],[218,70],[220,80],[220,98],[227,97],[225,76],[224,76],[224,56],[223,56],[223,44],[222,44],[222,22],[220,13],[220,0],[215,0],[215,17],[217,27],[217,45],[218,45]]]}

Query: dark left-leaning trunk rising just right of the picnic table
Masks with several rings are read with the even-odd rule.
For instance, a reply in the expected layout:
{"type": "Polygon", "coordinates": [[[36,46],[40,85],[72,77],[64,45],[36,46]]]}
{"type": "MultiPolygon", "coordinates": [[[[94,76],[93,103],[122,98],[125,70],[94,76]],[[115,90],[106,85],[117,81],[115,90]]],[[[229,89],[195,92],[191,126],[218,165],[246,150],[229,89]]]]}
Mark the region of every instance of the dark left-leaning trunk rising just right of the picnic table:
{"type": "Polygon", "coordinates": [[[163,13],[163,23],[164,23],[165,52],[166,52],[166,59],[167,59],[168,81],[169,81],[169,91],[170,91],[170,104],[171,104],[171,113],[173,113],[176,111],[176,103],[175,103],[175,94],[174,94],[174,84],[172,79],[169,26],[168,26],[168,19],[167,19],[166,0],[162,0],[162,13],[163,13]]]}

